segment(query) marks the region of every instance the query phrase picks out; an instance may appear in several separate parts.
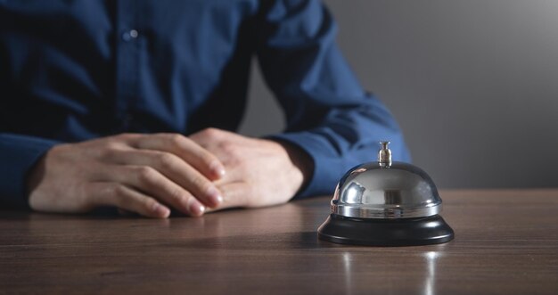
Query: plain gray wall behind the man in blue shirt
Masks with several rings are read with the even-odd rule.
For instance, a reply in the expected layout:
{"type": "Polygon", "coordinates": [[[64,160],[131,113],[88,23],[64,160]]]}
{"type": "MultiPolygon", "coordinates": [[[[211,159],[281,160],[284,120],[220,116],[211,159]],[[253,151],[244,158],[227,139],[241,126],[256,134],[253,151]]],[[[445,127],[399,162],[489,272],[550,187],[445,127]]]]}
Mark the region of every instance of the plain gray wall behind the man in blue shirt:
{"type": "MultiPolygon", "coordinates": [[[[558,186],[558,0],[325,3],[352,69],[439,187],[558,186]]],[[[241,132],[280,131],[253,73],[241,132]]]]}

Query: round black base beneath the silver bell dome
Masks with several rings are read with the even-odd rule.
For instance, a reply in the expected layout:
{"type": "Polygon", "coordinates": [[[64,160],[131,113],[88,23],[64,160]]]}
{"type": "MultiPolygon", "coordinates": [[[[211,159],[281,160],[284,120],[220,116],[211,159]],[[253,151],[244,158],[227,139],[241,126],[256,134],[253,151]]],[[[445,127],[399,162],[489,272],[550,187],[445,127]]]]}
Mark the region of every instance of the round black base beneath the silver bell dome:
{"type": "Polygon", "coordinates": [[[317,233],[320,240],[365,246],[430,245],[454,239],[454,230],[439,215],[372,219],[331,214],[317,233]]]}

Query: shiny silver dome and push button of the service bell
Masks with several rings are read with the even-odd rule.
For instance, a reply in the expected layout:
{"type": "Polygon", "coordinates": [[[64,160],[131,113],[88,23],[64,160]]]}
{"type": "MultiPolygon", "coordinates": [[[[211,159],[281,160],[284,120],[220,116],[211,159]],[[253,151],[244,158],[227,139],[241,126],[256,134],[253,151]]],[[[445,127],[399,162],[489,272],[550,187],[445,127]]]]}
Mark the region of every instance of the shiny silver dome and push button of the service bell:
{"type": "Polygon", "coordinates": [[[332,199],[332,213],[357,218],[414,218],[439,214],[442,201],[423,169],[392,162],[382,142],[378,161],[352,168],[341,178],[332,199]]]}

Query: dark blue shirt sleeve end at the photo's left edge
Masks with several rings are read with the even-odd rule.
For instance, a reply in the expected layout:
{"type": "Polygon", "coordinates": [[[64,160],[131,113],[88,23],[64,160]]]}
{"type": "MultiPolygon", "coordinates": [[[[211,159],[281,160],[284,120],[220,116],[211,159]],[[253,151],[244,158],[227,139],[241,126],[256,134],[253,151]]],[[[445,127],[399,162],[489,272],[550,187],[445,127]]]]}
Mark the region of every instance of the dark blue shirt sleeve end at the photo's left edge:
{"type": "Polygon", "coordinates": [[[25,180],[37,160],[57,142],[26,135],[0,133],[0,205],[29,208],[25,180]]]}

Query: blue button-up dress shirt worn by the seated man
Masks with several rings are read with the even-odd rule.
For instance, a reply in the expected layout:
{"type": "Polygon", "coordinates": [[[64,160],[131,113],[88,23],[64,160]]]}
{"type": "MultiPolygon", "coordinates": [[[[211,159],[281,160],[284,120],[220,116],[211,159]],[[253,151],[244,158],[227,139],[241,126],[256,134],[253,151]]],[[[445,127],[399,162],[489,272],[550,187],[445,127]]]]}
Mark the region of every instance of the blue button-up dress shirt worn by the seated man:
{"type": "Polygon", "coordinates": [[[287,120],[270,136],[315,163],[297,197],[332,193],[382,139],[409,160],[335,34],[317,0],[0,0],[0,202],[27,206],[26,176],[57,143],[234,131],[252,56],[287,120]]]}

